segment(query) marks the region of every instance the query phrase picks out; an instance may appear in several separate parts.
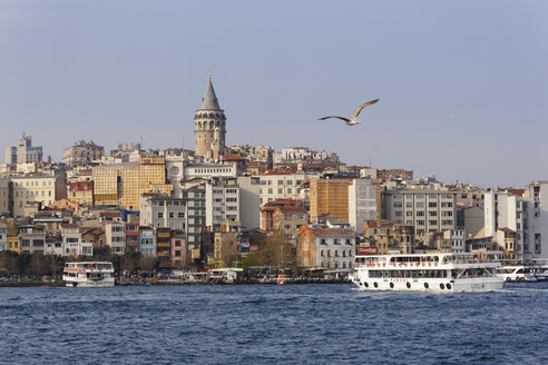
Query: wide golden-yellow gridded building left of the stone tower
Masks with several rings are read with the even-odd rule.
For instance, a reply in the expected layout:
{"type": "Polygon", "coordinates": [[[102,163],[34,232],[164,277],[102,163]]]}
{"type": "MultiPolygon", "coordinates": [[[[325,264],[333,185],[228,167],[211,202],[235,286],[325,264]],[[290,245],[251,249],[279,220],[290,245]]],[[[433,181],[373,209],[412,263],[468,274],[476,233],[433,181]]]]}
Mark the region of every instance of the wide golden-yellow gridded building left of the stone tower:
{"type": "Polygon", "coordinates": [[[92,169],[95,205],[139,209],[144,193],[170,195],[163,156],[143,156],[139,162],[98,166],[92,169]]]}

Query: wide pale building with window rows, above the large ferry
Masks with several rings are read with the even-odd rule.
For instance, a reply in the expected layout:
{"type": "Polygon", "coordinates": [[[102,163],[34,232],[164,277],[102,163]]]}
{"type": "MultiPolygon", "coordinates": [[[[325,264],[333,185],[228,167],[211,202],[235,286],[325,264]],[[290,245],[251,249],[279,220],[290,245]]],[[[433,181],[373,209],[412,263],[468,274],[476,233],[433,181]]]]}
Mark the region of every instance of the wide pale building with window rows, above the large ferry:
{"type": "Polygon", "coordinates": [[[382,216],[414,227],[415,234],[456,228],[457,196],[449,190],[384,191],[382,216]]]}

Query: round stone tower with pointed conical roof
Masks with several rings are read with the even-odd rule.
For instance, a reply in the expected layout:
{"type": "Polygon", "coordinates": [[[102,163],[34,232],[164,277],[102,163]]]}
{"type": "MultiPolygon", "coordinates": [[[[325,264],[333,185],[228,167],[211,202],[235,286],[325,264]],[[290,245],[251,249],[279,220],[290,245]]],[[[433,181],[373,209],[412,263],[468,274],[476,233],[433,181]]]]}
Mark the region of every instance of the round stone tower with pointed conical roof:
{"type": "Polygon", "coordinates": [[[212,83],[212,73],[207,82],[206,93],[202,99],[202,108],[194,116],[194,134],[196,137],[196,156],[217,160],[225,150],[226,117],[218,106],[212,83]]]}

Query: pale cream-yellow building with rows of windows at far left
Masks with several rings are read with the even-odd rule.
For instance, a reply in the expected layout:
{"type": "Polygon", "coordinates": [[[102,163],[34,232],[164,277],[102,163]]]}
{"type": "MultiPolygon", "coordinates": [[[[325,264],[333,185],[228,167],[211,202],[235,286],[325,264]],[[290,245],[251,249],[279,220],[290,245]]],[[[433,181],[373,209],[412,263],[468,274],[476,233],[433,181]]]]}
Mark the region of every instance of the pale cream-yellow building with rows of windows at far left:
{"type": "Polygon", "coordinates": [[[18,176],[11,177],[13,187],[13,216],[26,216],[26,207],[39,203],[46,207],[67,197],[65,176],[18,176]]]}

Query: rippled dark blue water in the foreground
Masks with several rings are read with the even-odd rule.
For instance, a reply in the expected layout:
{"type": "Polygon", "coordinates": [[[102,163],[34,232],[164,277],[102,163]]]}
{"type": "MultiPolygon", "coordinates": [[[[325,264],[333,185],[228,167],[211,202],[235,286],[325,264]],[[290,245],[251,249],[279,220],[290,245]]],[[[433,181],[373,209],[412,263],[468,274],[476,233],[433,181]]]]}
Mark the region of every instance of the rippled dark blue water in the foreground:
{"type": "Polygon", "coordinates": [[[0,364],[548,364],[548,283],[0,288],[0,364]]]}

